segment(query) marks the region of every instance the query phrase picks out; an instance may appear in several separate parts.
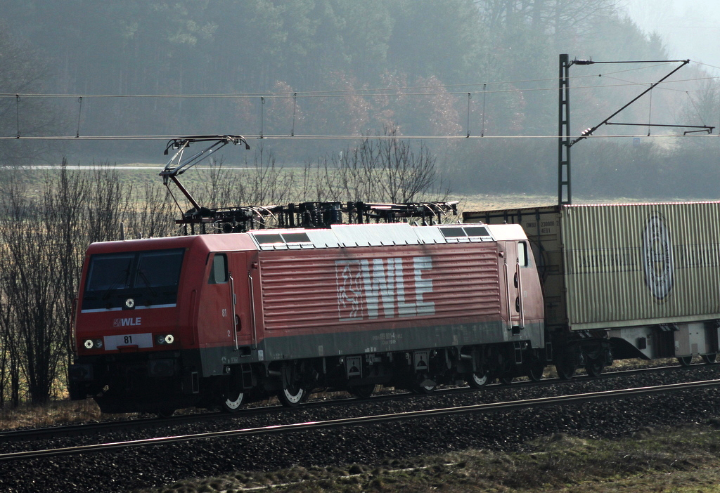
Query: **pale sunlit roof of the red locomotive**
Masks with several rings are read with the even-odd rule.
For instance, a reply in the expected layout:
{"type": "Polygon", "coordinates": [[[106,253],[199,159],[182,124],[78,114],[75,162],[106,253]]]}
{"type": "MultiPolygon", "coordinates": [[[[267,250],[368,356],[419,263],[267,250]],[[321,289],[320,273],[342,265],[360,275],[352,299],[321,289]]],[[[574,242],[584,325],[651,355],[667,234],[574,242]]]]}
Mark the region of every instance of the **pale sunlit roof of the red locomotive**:
{"type": "Polygon", "coordinates": [[[508,239],[526,239],[526,235],[517,224],[336,224],[330,229],[265,229],[248,233],[105,241],[92,244],[89,253],[190,247],[197,243],[204,244],[210,251],[234,251],[387,247],[508,239]]]}

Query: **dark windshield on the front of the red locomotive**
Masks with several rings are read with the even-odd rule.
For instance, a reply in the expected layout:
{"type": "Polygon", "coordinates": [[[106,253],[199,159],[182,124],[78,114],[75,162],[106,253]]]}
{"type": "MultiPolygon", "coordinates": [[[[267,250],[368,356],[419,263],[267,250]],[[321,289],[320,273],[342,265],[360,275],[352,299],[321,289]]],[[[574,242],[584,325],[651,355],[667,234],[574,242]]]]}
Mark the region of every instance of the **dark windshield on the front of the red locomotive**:
{"type": "Polygon", "coordinates": [[[82,310],[174,305],[184,249],[90,257],[82,310]]]}

